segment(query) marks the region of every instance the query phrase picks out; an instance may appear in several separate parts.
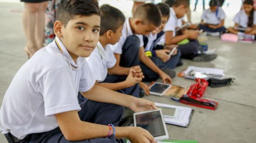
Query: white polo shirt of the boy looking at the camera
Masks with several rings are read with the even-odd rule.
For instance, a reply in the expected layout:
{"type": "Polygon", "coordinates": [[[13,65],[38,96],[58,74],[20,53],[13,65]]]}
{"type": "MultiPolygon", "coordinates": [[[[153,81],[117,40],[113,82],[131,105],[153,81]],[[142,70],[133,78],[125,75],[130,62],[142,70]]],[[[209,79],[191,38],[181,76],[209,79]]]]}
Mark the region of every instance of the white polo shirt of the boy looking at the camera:
{"type": "Polygon", "coordinates": [[[14,76],[0,109],[0,131],[23,139],[57,128],[54,114],[81,110],[78,91],[88,91],[94,83],[84,58],[74,62],[56,37],[14,76]]]}

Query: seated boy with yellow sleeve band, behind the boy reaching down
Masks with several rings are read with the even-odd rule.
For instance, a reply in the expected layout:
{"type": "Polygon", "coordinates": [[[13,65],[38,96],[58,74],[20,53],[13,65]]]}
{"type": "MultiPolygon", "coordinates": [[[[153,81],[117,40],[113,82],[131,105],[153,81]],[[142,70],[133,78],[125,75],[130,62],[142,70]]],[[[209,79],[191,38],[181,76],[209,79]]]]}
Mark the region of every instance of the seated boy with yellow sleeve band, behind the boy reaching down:
{"type": "MultiPolygon", "coordinates": [[[[169,6],[164,3],[157,4],[161,13],[162,13],[162,24],[156,28],[153,32],[150,32],[148,36],[143,36],[143,43],[145,47],[145,54],[150,57],[150,59],[157,65],[159,68],[169,68],[174,69],[179,63],[181,52],[175,50],[172,55],[169,55],[171,50],[178,45],[158,45],[161,42],[161,38],[164,37],[164,32],[162,31],[166,22],[168,21],[170,10],[169,6]]],[[[164,44],[164,43],[163,43],[164,44]]],[[[144,64],[140,64],[142,71],[147,77],[158,77],[158,74],[152,71],[144,64]]]]}

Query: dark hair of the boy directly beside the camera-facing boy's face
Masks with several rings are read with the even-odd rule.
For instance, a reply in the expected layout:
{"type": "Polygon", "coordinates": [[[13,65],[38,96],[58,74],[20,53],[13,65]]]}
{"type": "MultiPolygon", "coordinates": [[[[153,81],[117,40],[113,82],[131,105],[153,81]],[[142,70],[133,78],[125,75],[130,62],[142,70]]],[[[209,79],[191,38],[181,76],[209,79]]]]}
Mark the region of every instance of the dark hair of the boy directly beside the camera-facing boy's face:
{"type": "Polygon", "coordinates": [[[103,35],[108,30],[115,32],[125,22],[123,13],[119,9],[108,4],[101,6],[101,13],[100,35],[103,35]]]}

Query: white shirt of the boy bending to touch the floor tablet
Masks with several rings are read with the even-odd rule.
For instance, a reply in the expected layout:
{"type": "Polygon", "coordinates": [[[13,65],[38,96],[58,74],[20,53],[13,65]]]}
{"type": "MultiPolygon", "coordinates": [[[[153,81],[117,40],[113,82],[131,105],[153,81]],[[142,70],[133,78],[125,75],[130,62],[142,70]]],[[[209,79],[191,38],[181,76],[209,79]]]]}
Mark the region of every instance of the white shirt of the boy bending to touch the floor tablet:
{"type": "MultiPolygon", "coordinates": [[[[124,45],[125,40],[131,36],[134,35],[134,33],[132,32],[131,26],[130,26],[130,22],[129,19],[127,19],[123,25],[123,29],[122,29],[122,36],[120,37],[119,42],[117,42],[115,45],[107,45],[110,46],[111,50],[116,53],[116,54],[122,54],[122,47],[124,45]]],[[[137,35],[139,38],[142,37],[142,35],[137,35]]],[[[140,47],[143,46],[143,43],[140,42],[140,47]]]]}

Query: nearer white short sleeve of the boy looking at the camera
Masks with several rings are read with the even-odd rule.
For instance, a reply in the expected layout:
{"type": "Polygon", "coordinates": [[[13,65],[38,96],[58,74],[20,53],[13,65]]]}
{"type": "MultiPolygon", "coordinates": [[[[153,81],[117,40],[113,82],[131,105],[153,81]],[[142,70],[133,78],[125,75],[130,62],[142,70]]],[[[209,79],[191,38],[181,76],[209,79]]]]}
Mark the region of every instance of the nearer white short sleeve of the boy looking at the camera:
{"type": "Polygon", "coordinates": [[[71,110],[81,110],[78,104],[77,92],[74,88],[70,67],[60,67],[48,71],[40,80],[43,91],[45,116],[71,110]]]}

